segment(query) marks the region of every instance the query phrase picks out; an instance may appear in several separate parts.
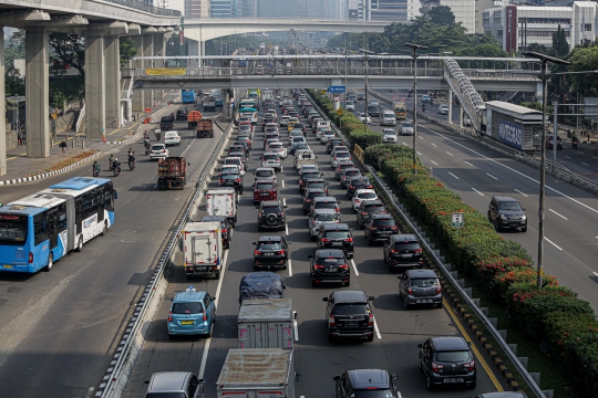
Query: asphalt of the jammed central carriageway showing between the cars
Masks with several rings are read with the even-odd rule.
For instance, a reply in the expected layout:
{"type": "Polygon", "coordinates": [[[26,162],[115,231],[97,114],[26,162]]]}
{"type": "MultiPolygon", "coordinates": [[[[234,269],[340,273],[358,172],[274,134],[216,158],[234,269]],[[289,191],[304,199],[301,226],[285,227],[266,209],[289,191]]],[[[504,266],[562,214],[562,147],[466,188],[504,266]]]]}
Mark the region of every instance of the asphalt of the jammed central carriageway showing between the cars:
{"type": "MultiPolygon", "coordinates": [[[[278,105],[278,104],[277,104],[278,105]]],[[[293,107],[300,106],[293,101],[293,107]]],[[[261,108],[262,109],[262,108],[261,108]]],[[[278,116],[281,109],[277,106],[278,116]]],[[[310,260],[316,243],[310,240],[308,218],[303,214],[303,198],[299,193],[298,174],[292,156],[282,161],[277,175],[278,199],[287,205],[286,224],[280,232],[258,232],[258,210],[254,205],[252,179],[256,168],[261,166],[264,133],[260,128],[262,112],[252,138],[252,149],[247,160],[244,178],[244,195],[238,206],[238,219],[231,237],[230,249],[224,253],[225,266],[219,279],[188,281],[183,266],[175,266],[168,276],[168,287],[156,317],[147,325],[143,352],[126,386],[125,397],[138,397],[147,388],[144,384],[156,371],[193,371],[205,379],[207,397],[216,396],[216,380],[230,348],[237,348],[239,313],[239,283],[241,277],[254,271],[252,242],[265,234],[280,234],[291,242],[290,258],[286,270],[275,271],[286,284],[285,297],[292,300],[298,318],[295,325],[295,369],[301,374],[296,385],[296,397],[334,397],[333,377],[348,369],[379,368],[398,375],[395,386],[403,397],[429,397],[426,379],[417,368],[417,344],[434,336],[460,336],[464,333],[453,310],[416,307],[405,310],[399,297],[399,273],[389,273],[382,255],[382,245],[370,247],[355,221],[351,200],[346,197],[330,167],[330,156],[307,128],[309,147],[317,155],[317,164],[329,184],[329,196],[340,201],[340,221],[353,229],[354,258],[349,260],[350,286],[326,285],[313,287],[310,281],[310,260]],[[193,284],[197,291],[206,291],[216,297],[217,316],[210,338],[179,336],[169,338],[167,317],[171,300],[176,292],[184,292],[193,284]],[[333,291],[362,290],[374,296],[371,302],[374,314],[373,342],[338,341],[330,343],[327,335],[326,303],[333,291]]],[[[301,123],[307,119],[301,117],[301,123]]],[[[234,134],[237,134],[235,132],[234,134]]],[[[287,146],[287,130],[280,128],[280,140],[287,146]]],[[[208,188],[218,187],[218,172],[212,177],[208,188]]],[[[199,206],[197,218],[206,214],[205,200],[199,206]]],[[[179,259],[181,261],[181,259],[179,259]]],[[[465,335],[467,341],[472,341],[465,335]]],[[[475,339],[473,339],[475,341],[475,339]]],[[[477,385],[471,390],[464,386],[443,388],[439,396],[471,397],[480,392],[503,390],[502,378],[493,374],[488,358],[480,354],[474,344],[477,385]]]]}

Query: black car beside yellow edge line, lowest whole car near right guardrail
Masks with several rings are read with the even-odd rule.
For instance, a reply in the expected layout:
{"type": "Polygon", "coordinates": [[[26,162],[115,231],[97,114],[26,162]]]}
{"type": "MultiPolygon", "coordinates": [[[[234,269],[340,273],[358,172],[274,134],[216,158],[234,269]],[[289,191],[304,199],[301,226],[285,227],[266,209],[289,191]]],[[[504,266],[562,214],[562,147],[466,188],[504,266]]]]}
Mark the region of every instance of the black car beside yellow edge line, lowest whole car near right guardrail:
{"type": "Polygon", "coordinates": [[[475,360],[471,343],[463,337],[431,337],[420,348],[420,370],[426,379],[427,389],[436,386],[465,384],[475,388],[475,360]]]}

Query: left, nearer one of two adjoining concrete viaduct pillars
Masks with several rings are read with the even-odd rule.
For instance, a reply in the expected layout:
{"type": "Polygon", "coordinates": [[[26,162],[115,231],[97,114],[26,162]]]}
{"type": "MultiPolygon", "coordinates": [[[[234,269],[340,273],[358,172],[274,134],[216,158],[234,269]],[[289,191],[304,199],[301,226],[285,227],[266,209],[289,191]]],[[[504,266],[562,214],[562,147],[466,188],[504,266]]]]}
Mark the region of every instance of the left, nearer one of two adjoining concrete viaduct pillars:
{"type": "MultiPolygon", "coordinates": [[[[110,126],[110,124],[107,124],[110,126]]],[[[85,135],[102,137],[106,128],[106,56],[103,31],[85,31],[85,135]]]]}

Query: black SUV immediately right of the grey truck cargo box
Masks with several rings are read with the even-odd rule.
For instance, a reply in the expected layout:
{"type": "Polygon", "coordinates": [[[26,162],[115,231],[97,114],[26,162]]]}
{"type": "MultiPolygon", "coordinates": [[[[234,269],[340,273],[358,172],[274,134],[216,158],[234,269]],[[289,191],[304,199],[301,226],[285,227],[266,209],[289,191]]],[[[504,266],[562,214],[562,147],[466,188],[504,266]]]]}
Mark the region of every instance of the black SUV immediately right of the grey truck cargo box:
{"type": "Polygon", "coordinates": [[[327,302],[328,341],[337,337],[357,337],[373,342],[374,318],[370,301],[363,291],[337,291],[323,297],[327,302]]]}

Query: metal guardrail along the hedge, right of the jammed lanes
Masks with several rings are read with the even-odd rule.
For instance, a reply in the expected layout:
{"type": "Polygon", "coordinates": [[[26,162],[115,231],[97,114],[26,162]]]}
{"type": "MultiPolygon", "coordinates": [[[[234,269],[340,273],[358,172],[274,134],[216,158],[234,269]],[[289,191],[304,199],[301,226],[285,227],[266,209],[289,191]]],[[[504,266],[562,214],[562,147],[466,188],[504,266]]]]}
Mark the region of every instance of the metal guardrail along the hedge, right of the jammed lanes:
{"type": "MultiPolygon", "coordinates": [[[[315,101],[312,101],[316,109],[318,109],[318,112],[320,112],[324,117],[327,117],[326,113],[322,112],[322,109],[319,108],[319,106],[316,104],[315,101]]],[[[336,125],[333,123],[330,123],[330,125],[336,128],[336,125]]],[[[342,132],[340,132],[338,128],[336,128],[336,133],[338,135],[340,135],[340,137],[342,138],[343,142],[348,142],[347,140],[347,137],[344,137],[344,135],[342,134],[342,132]]],[[[477,305],[474,303],[474,301],[467,295],[467,293],[463,290],[463,287],[461,287],[461,285],[458,284],[458,282],[453,277],[453,275],[451,274],[451,271],[444,265],[443,261],[441,260],[440,258],[440,254],[436,254],[436,253],[440,253],[440,251],[435,251],[434,249],[432,249],[430,247],[430,244],[427,243],[427,241],[425,240],[424,237],[422,237],[422,234],[420,233],[419,229],[411,222],[411,220],[409,219],[409,217],[406,217],[406,214],[403,212],[403,209],[401,206],[399,206],[393,199],[392,197],[394,196],[393,192],[389,191],[385,187],[384,187],[384,181],[382,181],[379,177],[378,177],[378,174],[377,171],[369,165],[363,165],[368,171],[370,171],[370,174],[372,175],[372,178],[374,179],[374,181],[378,184],[378,186],[384,191],[384,193],[386,195],[386,197],[390,199],[394,210],[401,214],[401,217],[403,218],[403,220],[405,221],[405,223],[409,226],[409,228],[411,228],[411,230],[415,233],[415,235],[417,237],[417,240],[420,241],[420,243],[425,248],[425,250],[430,253],[431,258],[434,260],[434,262],[436,263],[436,265],[443,271],[444,275],[446,276],[446,279],[448,281],[451,281],[451,284],[453,285],[453,287],[455,289],[455,291],[457,291],[460,293],[460,295],[462,296],[463,301],[465,301],[467,303],[467,305],[473,310],[473,312],[475,313],[475,315],[482,321],[482,323],[485,325],[485,327],[488,329],[488,332],[491,333],[491,335],[494,337],[494,339],[498,343],[498,345],[501,346],[501,348],[505,352],[505,354],[507,355],[508,359],[513,363],[513,365],[515,366],[515,368],[517,369],[517,371],[522,375],[522,377],[524,378],[525,383],[529,386],[529,388],[532,389],[532,391],[534,392],[534,395],[537,397],[537,398],[546,398],[546,396],[544,395],[544,392],[542,391],[542,389],[539,388],[538,385],[536,385],[536,381],[534,381],[534,378],[532,377],[532,375],[529,375],[529,373],[527,371],[527,369],[522,365],[522,363],[519,362],[519,359],[517,358],[517,355],[514,354],[509,346],[507,345],[507,343],[503,339],[503,336],[498,333],[498,331],[494,327],[494,325],[491,323],[491,321],[486,317],[486,315],[484,315],[484,313],[482,312],[482,310],[480,310],[480,307],[477,307],[477,305]]]]}

